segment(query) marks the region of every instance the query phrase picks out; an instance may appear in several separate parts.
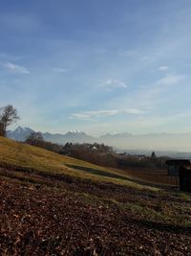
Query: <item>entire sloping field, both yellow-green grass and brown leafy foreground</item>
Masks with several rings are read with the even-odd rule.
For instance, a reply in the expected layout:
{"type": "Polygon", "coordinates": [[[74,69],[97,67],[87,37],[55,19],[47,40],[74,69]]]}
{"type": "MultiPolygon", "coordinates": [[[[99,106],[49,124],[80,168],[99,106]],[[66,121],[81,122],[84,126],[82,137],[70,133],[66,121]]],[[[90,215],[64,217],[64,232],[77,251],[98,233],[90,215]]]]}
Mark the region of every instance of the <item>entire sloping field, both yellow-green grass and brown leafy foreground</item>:
{"type": "Polygon", "coordinates": [[[0,255],[191,255],[191,196],[0,137],[0,255]]]}

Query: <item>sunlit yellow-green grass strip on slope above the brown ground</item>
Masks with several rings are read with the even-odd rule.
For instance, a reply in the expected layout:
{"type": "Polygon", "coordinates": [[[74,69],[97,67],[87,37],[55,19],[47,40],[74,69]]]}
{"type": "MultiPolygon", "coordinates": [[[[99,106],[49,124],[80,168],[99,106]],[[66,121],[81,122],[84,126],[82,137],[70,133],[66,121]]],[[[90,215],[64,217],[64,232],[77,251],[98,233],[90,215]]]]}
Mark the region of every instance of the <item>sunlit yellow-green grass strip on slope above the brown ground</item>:
{"type": "Polygon", "coordinates": [[[0,166],[91,178],[99,181],[136,186],[139,189],[156,189],[151,188],[149,185],[140,185],[132,181],[128,175],[123,174],[121,171],[118,172],[114,169],[96,166],[3,137],[0,137],[0,166]]]}

